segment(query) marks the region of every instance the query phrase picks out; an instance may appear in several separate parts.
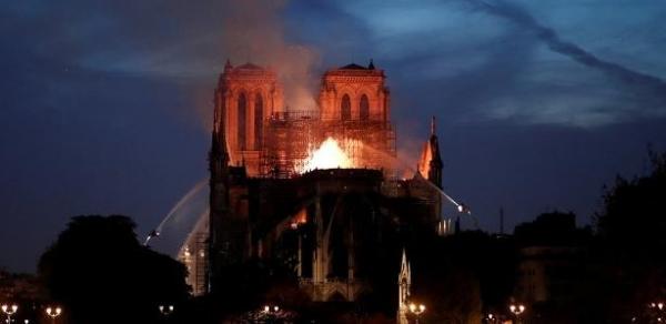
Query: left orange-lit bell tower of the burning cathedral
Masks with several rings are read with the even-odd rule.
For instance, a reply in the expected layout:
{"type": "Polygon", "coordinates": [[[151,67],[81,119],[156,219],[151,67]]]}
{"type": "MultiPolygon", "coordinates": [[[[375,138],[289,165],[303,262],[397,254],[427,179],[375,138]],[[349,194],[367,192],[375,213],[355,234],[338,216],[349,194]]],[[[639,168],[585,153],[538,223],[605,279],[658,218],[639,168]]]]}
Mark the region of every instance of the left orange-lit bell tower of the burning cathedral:
{"type": "Polygon", "coordinates": [[[275,73],[252,63],[234,68],[228,60],[215,98],[215,111],[226,124],[230,163],[243,164],[249,175],[258,175],[266,136],[264,125],[284,111],[282,87],[275,73]]]}

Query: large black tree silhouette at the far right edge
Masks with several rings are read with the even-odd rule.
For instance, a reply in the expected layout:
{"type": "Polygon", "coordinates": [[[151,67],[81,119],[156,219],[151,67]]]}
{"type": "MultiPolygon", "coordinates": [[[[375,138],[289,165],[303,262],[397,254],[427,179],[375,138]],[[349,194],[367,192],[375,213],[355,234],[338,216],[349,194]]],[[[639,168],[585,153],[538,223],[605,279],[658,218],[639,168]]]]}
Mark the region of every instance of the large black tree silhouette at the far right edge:
{"type": "Polygon", "coordinates": [[[630,318],[666,296],[666,153],[649,156],[652,170],[618,176],[597,214],[597,253],[606,270],[599,298],[608,298],[613,318],[630,318]]]}

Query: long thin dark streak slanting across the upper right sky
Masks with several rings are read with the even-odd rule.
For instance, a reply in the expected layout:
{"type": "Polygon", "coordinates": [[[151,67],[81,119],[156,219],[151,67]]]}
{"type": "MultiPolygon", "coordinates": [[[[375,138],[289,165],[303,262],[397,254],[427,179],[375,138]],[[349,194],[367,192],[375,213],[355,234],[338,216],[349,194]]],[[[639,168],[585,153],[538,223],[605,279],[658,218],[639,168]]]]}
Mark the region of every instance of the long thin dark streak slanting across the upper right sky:
{"type": "Polygon", "coordinates": [[[637,94],[648,94],[657,100],[658,105],[666,104],[666,81],[654,75],[627,69],[620,64],[604,61],[575,43],[562,40],[557,32],[539,23],[532,14],[518,6],[505,1],[493,3],[483,0],[467,0],[478,9],[491,14],[507,19],[517,26],[534,31],[534,34],[551,50],[566,55],[586,67],[599,70],[610,78],[622,82],[637,94]]]}

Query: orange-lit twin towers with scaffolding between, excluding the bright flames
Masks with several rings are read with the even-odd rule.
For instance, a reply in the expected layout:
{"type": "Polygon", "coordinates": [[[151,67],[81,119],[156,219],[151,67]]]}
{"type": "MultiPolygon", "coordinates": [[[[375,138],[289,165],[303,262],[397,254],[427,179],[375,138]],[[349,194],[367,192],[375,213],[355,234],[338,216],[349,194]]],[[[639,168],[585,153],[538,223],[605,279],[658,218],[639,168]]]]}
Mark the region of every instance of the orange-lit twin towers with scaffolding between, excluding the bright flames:
{"type": "Polygon", "coordinates": [[[243,165],[252,178],[290,178],[303,171],[313,145],[333,138],[355,165],[387,168],[381,160],[395,156],[395,135],[384,80],[372,62],[333,69],[322,78],[319,108],[291,109],[273,71],[228,61],[214,118],[216,126],[224,123],[230,165],[243,165]]]}

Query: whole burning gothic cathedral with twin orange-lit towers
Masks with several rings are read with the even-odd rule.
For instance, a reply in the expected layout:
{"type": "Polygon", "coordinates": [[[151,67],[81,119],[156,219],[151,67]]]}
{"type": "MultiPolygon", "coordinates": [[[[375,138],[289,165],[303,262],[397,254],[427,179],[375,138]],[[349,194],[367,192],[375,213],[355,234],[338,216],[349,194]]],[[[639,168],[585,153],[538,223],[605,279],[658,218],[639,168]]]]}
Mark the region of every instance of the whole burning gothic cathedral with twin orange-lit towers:
{"type": "Polygon", "coordinates": [[[249,260],[281,260],[315,302],[357,301],[386,272],[397,287],[405,233],[437,235],[450,223],[434,119],[402,179],[385,79],[372,61],[331,69],[319,107],[297,110],[273,71],[226,62],[214,91],[209,222],[181,255],[195,293],[224,290],[225,267],[249,260]]]}

